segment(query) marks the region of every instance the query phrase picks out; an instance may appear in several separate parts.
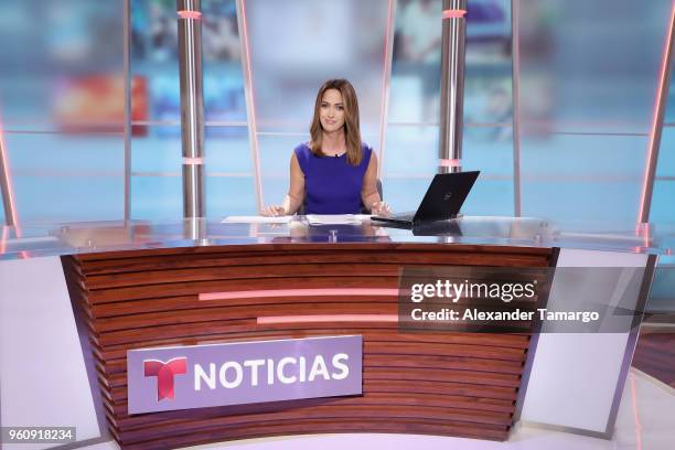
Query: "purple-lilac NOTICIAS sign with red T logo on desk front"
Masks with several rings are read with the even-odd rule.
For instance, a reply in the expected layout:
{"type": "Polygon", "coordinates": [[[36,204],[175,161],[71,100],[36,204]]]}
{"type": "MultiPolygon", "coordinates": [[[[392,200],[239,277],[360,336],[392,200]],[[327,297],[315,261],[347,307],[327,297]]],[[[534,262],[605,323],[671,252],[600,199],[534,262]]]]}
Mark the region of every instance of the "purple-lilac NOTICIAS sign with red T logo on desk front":
{"type": "Polygon", "coordinates": [[[130,350],[129,414],[362,394],[362,336],[130,350]]]}

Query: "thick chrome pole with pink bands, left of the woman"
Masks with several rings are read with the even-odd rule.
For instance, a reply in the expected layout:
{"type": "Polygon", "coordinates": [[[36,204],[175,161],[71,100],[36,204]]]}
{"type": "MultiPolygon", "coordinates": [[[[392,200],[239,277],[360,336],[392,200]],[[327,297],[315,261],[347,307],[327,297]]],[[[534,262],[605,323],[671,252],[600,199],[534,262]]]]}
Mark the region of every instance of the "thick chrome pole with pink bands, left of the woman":
{"type": "MultiPolygon", "coordinates": [[[[204,217],[204,98],[202,93],[202,13],[200,0],[176,0],[183,216],[204,217]]],[[[194,221],[191,221],[194,222],[194,221]]]]}

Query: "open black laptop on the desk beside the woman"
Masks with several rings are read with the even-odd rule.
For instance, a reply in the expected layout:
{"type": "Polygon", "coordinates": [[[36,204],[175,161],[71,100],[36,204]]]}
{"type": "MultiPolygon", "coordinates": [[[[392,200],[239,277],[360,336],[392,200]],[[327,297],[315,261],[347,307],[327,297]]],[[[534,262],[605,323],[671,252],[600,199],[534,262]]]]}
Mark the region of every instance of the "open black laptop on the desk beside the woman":
{"type": "Polygon", "coordinates": [[[413,228],[424,223],[457,217],[480,171],[439,173],[433,176],[417,212],[373,216],[374,225],[413,228]]]}

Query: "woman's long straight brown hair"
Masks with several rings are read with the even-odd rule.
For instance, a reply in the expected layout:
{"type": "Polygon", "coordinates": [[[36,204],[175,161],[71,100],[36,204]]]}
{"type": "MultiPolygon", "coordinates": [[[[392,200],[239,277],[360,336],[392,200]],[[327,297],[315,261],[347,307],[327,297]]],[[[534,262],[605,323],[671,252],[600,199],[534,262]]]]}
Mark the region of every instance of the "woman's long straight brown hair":
{"type": "Polygon", "coordinates": [[[361,150],[361,129],[358,128],[358,100],[356,99],[356,92],[352,84],[343,78],[329,79],[321,86],[317,94],[314,118],[310,126],[310,150],[317,156],[325,156],[321,150],[323,128],[321,127],[319,114],[323,93],[328,89],[336,89],[342,94],[342,104],[344,106],[344,140],[346,143],[347,162],[352,165],[358,165],[363,159],[363,151],[361,150]]]}

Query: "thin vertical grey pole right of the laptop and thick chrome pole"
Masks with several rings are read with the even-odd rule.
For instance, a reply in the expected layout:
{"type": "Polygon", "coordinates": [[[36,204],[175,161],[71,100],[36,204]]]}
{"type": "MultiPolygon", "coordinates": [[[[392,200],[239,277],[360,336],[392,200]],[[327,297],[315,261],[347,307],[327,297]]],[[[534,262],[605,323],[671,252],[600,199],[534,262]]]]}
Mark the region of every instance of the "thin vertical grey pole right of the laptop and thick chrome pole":
{"type": "Polygon", "coordinates": [[[513,215],[522,215],[521,206],[521,38],[518,0],[511,1],[511,83],[513,99],[513,215]]]}

